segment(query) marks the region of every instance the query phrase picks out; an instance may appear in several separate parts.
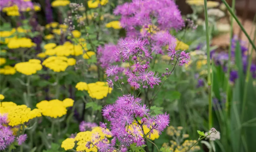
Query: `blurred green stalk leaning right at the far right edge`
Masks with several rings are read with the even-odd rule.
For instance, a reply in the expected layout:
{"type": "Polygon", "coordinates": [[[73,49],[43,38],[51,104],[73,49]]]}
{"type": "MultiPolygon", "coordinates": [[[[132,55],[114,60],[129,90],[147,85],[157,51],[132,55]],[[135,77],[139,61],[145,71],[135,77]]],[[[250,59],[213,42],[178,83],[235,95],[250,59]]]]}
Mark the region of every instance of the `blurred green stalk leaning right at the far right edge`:
{"type": "MultiPolygon", "coordinates": [[[[255,18],[256,17],[254,17],[254,19],[255,18]]],[[[253,41],[255,41],[255,37],[256,37],[256,23],[255,23],[253,41]]],[[[250,70],[251,70],[251,63],[252,63],[252,52],[253,52],[253,48],[251,48],[251,54],[249,56],[249,62],[248,62],[247,71],[246,71],[245,86],[244,86],[244,97],[243,97],[243,104],[242,104],[242,117],[241,117],[241,122],[242,123],[243,123],[243,119],[244,119],[245,105],[247,103],[246,102],[246,99],[247,99],[246,98],[247,97],[247,88],[248,88],[249,78],[250,78],[250,75],[251,75],[250,70]]]]}

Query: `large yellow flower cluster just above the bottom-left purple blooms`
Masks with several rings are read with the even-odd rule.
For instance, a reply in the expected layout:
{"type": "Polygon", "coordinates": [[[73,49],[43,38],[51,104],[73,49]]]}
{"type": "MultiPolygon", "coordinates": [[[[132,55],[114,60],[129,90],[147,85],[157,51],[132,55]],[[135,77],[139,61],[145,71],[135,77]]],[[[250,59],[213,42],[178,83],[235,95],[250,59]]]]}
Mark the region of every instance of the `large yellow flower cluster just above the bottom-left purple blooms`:
{"type": "Polygon", "coordinates": [[[41,110],[27,107],[27,105],[16,105],[13,102],[0,102],[0,113],[7,113],[9,126],[17,126],[28,122],[30,119],[41,117],[41,110]]]}

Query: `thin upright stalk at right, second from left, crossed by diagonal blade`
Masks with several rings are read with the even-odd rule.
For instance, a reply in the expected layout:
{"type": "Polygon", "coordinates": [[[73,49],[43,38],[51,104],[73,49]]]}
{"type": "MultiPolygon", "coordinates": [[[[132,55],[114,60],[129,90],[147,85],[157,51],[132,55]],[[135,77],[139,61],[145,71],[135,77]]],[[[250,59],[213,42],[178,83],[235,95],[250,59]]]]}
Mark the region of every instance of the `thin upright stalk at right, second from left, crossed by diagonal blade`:
{"type": "MultiPolygon", "coordinates": [[[[232,11],[235,11],[235,2],[236,0],[232,0],[232,11]]],[[[229,60],[228,60],[228,71],[227,71],[227,90],[226,90],[226,115],[229,114],[229,78],[230,78],[230,70],[231,70],[231,43],[232,43],[232,37],[233,37],[233,17],[231,18],[230,23],[230,46],[229,46],[229,60]]]]}

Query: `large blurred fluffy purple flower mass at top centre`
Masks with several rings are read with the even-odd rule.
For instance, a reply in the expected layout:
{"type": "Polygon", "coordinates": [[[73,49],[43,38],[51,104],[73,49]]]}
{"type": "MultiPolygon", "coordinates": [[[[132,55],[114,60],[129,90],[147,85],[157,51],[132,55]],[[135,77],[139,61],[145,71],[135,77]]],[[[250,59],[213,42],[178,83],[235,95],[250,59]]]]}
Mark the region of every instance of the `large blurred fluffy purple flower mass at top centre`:
{"type": "Polygon", "coordinates": [[[184,26],[180,10],[173,0],[133,0],[117,6],[114,14],[121,15],[121,26],[129,36],[138,36],[138,26],[157,24],[160,30],[178,30],[184,26]]]}

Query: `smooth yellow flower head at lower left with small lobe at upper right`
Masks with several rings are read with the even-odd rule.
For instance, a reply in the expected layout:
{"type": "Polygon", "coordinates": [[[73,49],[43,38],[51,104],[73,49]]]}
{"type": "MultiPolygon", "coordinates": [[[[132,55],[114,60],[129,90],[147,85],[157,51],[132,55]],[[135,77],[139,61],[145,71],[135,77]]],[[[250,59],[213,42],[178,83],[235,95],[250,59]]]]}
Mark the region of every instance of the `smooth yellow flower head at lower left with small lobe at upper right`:
{"type": "Polygon", "coordinates": [[[67,107],[72,107],[74,100],[66,98],[63,101],[58,99],[54,100],[43,100],[37,103],[36,107],[42,111],[43,116],[52,118],[62,117],[67,114],[67,107]]]}

